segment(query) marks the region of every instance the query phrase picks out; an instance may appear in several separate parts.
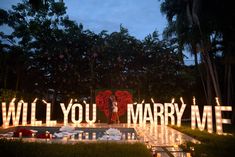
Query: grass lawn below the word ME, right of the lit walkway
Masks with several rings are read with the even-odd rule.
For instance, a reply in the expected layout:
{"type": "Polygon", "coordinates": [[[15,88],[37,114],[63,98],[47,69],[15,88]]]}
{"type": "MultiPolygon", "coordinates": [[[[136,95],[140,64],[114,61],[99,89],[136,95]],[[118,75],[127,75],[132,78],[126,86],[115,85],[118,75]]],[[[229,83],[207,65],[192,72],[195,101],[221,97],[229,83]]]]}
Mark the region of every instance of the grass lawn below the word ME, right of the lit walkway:
{"type": "Polygon", "coordinates": [[[235,156],[235,127],[230,125],[224,128],[224,132],[230,132],[232,136],[210,134],[198,129],[192,130],[190,125],[184,125],[180,128],[171,126],[185,134],[201,141],[201,144],[187,143],[183,147],[190,150],[194,147],[194,156],[196,157],[232,157],[235,156]]]}

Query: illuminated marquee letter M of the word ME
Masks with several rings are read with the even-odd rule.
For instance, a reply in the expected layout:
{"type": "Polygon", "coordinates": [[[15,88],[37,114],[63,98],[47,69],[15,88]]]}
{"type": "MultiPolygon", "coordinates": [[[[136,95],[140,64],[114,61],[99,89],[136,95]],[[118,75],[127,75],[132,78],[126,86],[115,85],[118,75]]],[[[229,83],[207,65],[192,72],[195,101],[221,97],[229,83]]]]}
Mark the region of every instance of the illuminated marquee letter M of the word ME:
{"type": "Polygon", "coordinates": [[[212,123],[212,107],[204,106],[202,121],[200,118],[200,112],[197,105],[191,106],[191,128],[196,128],[196,122],[199,130],[203,131],[205,129],[207,120],[207,130],[209,133],[213,132],[213,123],[212,123]]]}

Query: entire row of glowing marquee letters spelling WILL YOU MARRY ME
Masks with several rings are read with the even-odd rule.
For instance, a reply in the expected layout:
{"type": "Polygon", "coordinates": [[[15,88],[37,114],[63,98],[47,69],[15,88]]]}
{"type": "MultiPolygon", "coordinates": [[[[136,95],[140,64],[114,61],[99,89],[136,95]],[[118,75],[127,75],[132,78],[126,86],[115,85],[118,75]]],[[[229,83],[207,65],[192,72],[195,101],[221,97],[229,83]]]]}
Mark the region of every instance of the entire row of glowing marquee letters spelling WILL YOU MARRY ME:
{"type": "MultiPolygon", "coordinates": [[[[42,120],[36,119],[36,102],[35,99],[31,105],[23,100],[15,103],[15,98],[9,103],[2,102],[2,122],[3,127],[7,128],[10,125],[18,126],[19,124],[31,125],[31,126],[41,126],[43,124],[42,120]],[[31,107],[31,119],[28,118],[28,108],[31,107]],[[21,123],[20,123],[21,120],[21,123]],[[12,123],[11,123],[12,122],[12,123]],[[30,122],[30,124],[28,124],[30,122]]],[[[127,105],[127,123],[128,124],[145,124],[150,123],[152,125],[177,125],[181,126],[182,116],[186,109],[186,104],[183,99],[180,98],[181,105],[175,103],[172,99],[170,103],[155,103],[153,99],[152,103],[140,104],[128,104],[127,105]]],[[[55,126],[57,124],[56,120],[51,119],[51,103],[42,100],[46,104],[46,126],[55,126]]],[[[68,105],[60,103],[61,110],[64,115],[64,125],[69,123],[69,114],[71,113],[71,122],[75,125],[79,125],[83,121],[83,114],[85,114],[85,121],[88,124],[93,124],[96,122],[96,104],[93,104],[90,112],[90,104],[84,101],[84,106],[79,103],[73,103],[71,99],[68,105]],[[85,109],[83,110],[83,107],[85,109]],[[85,111],[85,113],[83,113],[85,111]],[[90,115],[91,114],[91,115],[90,115]],[[91,117],[91,118],[90,118],[91,117]]],[[[215,128],[217,134],[223,134],[223,124],[231,124],[230,119],[222,118],[222,112],[232,111],[231,106],[220,106],[218,98],[216,98],[217,106],[203,106],[203,113],[200,115],[199,106],[196,105],[195,98],[193,99],[193,105],[191,106],[191,128],[195,129],[198,127],[199,130],[205,130],[209,133],[213,132],[213,109],[215,111],[215,128]]]]}

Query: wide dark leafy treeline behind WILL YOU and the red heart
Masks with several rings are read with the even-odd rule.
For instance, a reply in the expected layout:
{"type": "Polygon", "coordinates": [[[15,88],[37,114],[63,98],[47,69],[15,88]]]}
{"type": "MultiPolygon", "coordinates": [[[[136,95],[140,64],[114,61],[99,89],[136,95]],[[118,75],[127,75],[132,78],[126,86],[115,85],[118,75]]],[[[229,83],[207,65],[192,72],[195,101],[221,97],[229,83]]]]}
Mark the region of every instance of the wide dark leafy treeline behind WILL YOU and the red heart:
{"type": "Polygon", "coordinates": [[[1,33],[1,89],[91,100],[98,89],[128,89],[139,100],[170,101],[195,83],[177,47],[157,32],[143,41],[122,26],[96,34],[70,20],[63,2],[49,0],[37,9],[23,1],[0,14],[13,30],[1,33]]]}

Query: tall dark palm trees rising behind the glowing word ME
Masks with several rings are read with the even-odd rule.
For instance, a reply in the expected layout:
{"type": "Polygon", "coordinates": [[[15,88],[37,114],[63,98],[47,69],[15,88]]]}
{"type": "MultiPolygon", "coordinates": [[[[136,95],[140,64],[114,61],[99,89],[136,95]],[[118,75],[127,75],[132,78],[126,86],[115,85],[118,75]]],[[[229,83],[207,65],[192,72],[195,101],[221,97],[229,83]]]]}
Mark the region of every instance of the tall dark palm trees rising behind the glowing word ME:
{"type": "Polygon", "coordinates": [[[187,49],[195,58],[201,80],[198,85],[203,87],[206,103],[214,104],[216,96],[221,104],[234,106],[235,12],[232,1],[162,0],[161,12],[168,21],[165,38],[178,45],[179,53],[187,49]]]}

